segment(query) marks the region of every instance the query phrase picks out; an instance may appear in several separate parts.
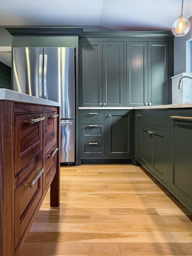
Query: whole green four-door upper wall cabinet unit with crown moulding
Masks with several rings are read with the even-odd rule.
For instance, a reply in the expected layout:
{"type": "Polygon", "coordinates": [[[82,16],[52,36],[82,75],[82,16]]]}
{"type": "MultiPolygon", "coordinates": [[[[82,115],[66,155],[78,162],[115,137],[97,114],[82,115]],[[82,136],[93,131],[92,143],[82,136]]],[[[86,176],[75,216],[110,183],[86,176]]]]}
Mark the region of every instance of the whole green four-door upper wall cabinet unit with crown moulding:
{"type": "Polygon", "coordinates": [[[173,35],[169,32],[83,32],[79,46],[79,106],[171,103],[173,35]]]}

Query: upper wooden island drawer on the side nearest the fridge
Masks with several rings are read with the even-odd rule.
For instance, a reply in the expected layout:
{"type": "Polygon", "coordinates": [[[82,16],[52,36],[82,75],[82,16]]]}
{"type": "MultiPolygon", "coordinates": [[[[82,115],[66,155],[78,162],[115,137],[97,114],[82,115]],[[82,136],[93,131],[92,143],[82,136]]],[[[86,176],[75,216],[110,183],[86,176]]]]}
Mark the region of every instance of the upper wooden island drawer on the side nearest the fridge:
{"type": "Polygon", "coordinates": [[[56,120],[57,120],[57,111],[46,112],[46,127],[45,127],[45,147],[47,147],[55,138],[57,134],[56,130],[56,120]]]}

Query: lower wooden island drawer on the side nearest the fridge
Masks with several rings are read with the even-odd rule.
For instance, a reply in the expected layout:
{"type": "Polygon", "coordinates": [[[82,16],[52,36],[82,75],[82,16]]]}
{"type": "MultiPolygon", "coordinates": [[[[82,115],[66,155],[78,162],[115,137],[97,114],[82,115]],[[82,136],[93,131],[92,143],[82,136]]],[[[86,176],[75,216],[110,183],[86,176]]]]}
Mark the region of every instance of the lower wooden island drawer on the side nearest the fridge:
{"type": "Polygon", "coordinates": [[[44,172],[45,188],[44,190],[46,190],[47,186],[50,185],[49,184],[50,180],[56,172],[56,162],[57,162],[57,146],[55,143],[55,145],[51,149],[49,149],[49,151],[45,155],[45,172],[44,172]]]}

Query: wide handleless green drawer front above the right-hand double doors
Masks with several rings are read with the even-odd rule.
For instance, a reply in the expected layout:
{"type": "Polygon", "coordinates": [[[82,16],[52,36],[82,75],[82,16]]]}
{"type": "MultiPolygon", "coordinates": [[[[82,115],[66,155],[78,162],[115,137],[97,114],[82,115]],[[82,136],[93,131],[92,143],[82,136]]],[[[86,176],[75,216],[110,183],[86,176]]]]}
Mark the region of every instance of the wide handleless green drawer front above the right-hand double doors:
{"type": "Polygon", "coordinates": [[[143,124],[166,128],[166,112],[140,112],[140,119],[143,124]]]}

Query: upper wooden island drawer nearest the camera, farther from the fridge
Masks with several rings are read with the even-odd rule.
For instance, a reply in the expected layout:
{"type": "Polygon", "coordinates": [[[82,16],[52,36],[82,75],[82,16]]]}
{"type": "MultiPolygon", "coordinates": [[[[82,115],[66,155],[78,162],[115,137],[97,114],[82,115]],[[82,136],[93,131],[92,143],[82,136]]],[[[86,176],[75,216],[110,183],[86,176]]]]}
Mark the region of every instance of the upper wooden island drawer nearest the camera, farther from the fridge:
{"type": "Polygon", "coordinates": [[[31,119],[39,119],[43,113],[15,115],[15,174],[26,166],[43,149],[43,122],[30,124],[31,119]]]}

